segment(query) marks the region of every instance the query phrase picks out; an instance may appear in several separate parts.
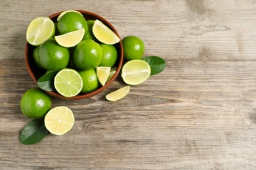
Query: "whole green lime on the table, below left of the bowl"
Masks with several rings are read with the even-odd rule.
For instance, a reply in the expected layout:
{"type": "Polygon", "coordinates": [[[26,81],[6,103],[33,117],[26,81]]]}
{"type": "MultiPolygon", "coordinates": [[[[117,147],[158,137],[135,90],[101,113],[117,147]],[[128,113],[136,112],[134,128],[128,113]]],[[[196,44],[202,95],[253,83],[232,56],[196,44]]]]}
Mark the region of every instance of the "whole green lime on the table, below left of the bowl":
{"type": "Polygon", "coordinates": [[[41,118],[51,109],[51,97],[39,88],[32,88],[22,95],[20,109],[29,118],[41,118]]]}

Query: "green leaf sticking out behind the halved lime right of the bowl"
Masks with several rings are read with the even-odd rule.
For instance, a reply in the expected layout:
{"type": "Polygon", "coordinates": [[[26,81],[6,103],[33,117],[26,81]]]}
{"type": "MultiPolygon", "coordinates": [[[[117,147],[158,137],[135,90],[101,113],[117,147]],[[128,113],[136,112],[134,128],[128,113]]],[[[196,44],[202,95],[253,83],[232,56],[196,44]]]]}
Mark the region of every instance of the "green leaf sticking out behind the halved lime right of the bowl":
{"type": "Polygon", "coordinates": [[[150,75],[156,75],[158,73],[161,73],[163,69],[165,69],[165,60],[158,56],[149,56],[142,59],[144,59],[150,65],[150,75]]]}

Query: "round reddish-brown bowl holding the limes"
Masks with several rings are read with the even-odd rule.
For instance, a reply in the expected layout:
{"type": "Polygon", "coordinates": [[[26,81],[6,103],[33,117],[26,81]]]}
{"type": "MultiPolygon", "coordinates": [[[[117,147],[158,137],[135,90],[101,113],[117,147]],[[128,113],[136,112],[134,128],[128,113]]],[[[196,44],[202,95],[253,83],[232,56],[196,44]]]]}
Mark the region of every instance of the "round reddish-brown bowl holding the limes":
{"type": "MultiPolygon", "coordinates": [[[[85,10],[77,10],[77,11],[79,11],[79,12],[81,12],[81,14],[83,14],[83,17],[85,18],[85,20],[96,20],[96,19],[100,20],[102,23],[104,23],[110,29],[112,29],[112,31],[114,31],[114,33],[116,33],[116,35],[119,37],[119,34],[117,33],[116,29],[106,19],[102,18],[101,16],[98,16],[97,14],[94,14],[93,12],[88,12],[88,11],[85,11],[85,10]]],[[[51,16],[49,16],[49,18],[51,18],[51,20],[53,20],[53,22],[56,22],[56,19],[58,18],[58,15],[60,13],[61,12],[57,12],[55,14],[52,14],[51,16]]],[[[117,61],[116,61],[117,69],[116,69],[116,73],[111,78],[111,80],[105,84],[105,86],[101,86],[100,88],[98,88],[95,91],[90,92],[90,93],[84,93],[84,94],[79,93],[79,95],[76,95],[74,97],[64,97],[64,96],[60,95],[58,92],[47,92],[47,93],[49,93],[49,95],[52,95],[54,97],[58,97],[60,99],[87,99],[89,97],[92,97],[93,95],[96,95],[96,94],[102,92],[106,88],[108,88],[108,86],[110,86],[110,84],[112,84],[112,82],[116,79],[117,75],[119,74],[119,71],[121,70],[121,66],[122,66],[122,63],[123,63],[123,45],[122,45],[122,42],[120,41],[117,44],[115,44],[115,47],[116,47],[116,50],[117,50],[117,61]]],[[[37,65],[35,64],[35,62],[33,61],[33,56],[32,56],[33,48],[35,48],[35,46],[30,45],[28,42],[26,43],[25,62],[26,62],[26,67],[28,69],[28,73],[30,74],[32,79],[35,82],[37,82],[37,80],[45,74],[45,71],[39,69],[37,67],[37,65]]]]}

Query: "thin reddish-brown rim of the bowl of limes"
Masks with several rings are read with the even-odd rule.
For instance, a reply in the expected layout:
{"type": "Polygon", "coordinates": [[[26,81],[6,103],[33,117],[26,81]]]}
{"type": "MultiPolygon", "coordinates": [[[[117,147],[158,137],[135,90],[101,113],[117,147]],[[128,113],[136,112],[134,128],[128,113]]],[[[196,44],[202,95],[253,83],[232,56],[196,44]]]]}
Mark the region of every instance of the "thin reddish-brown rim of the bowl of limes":
{"type": "MultiPolygon", "coordinates": [[[[105,18],[103,18],[102,16],[99,16],[98,14],[95,14],[93,12],[89,12],[87,10],[76,10],[78,12],[80,12],[81,14],[83,14],[83,17],[85,18],[86,15],[88,16],[92,16],[93,18],[97,18],[98,20],[100,20],[102,23],[106,24],[110,29],[112,29],[112,31],[114,31],[114,33],[116,33],[116,35],[119,37],[119,39],[121,40],[121,37],[119,36],[119,34],[117,33],[115,27],[108,22],[108,20],[106,20],[105,18]]],[[[58,17],[58,15],[64,12],[64,10],[60,11],[60,12],[56,12],[54,14],[51,14],[50,16],[48,16],[51,20],[53,20],[53,18],[58,17]]],[[[86,19],[86,18],[85,18],[86,19]]],[[[54,20],[53,20],[54,21],[54,20]]],[[[84,94],[78,94],[75,95],[74,97],[64,97],[62,95],[60,95],[58,92],[49,92],[44,90],[45,92],[47,92],[49,95],[52,95],[53,97],[57,97],[60,99],[88,99],[90,97],[93,97],[94,95],[103,92],[106,88],[108,88],[110,86],[110,84],[112,84],[112,82],[114,82],[114,80],[117,78],[117,76],[119,75],[119,72],[121,71],[121,67],[123,65],[123,44],[121,41],[119,41],[118,43],[119,46],[119,63],[116,65],[116,73],[114,74],[114,76],[104,85],[104,86],[100,86],[100,88],[97,88],[96,90],[94,90],[93,92],[90,93],[84,93],[84,94]]],[[[26,46],[25,46],[25,63],[26,63],[26,67],[28,70],[29,75],[32,77],[33,81],[35,83],[37,83],[37,78],[35,77],[35,75],[33,74],[32,68],[30,67],[30,62],[28,59],[28,48],[29,46],[32,46],[31,44],[28,43],[28,41],[26,41],[26,46]]]]}

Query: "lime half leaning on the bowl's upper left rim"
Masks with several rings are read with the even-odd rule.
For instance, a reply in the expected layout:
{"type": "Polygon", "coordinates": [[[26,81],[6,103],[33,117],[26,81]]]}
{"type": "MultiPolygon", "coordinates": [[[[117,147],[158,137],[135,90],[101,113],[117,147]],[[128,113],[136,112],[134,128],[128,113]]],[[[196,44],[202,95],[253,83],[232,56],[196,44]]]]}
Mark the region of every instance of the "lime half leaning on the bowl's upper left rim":
{"type": "Polygon", "coordinates": [[[28,25],[26,39],[33,46],[39,46],[54,36],[55,25],[48,17],[35,18],[28,25]]]}

